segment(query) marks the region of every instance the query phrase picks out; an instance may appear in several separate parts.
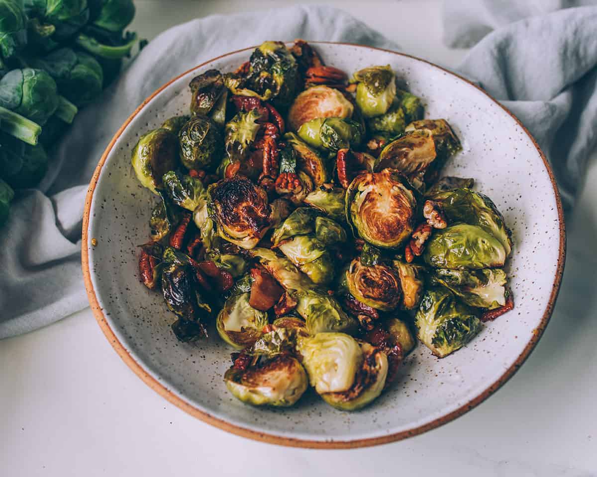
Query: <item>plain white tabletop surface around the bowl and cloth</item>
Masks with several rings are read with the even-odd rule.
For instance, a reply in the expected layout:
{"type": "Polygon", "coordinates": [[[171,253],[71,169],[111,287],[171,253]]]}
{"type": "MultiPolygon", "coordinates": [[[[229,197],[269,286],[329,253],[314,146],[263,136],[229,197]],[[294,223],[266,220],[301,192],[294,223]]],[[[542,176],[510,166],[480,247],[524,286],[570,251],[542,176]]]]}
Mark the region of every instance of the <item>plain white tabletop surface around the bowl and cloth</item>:
{"type": "MultiPolygon", "coordinates": [[[[192,17],[289,3],[137,0],[133,27],[151,38],[192,17]]],[[[446,66],[463,56],[441,45],[439,2],[360,3],[341,5],[404,51],[446,66]]],[[[568,221],[564,282],[536,351],[496,395],[442,428],[349,451],[227,434],[150,391],[86,309],[0,341],[0,475],[597,476],[595,183],[597,157],[568,221]]]]}

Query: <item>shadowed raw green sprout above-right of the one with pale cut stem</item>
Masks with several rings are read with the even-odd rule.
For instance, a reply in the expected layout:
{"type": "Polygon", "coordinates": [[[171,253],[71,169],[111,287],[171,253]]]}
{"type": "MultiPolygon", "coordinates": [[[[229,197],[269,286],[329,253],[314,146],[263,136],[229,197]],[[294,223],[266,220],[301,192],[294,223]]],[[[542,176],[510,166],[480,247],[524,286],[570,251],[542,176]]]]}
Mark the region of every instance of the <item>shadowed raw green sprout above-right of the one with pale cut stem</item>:
{"type": "Polygon", "coordinates": [[[97,60],[87,53],[60,48],[30,61],[30,64],[48,72],[56,81],[60,94],[75,106],[93,103],[101,94],[103,70],[97,60]]]}

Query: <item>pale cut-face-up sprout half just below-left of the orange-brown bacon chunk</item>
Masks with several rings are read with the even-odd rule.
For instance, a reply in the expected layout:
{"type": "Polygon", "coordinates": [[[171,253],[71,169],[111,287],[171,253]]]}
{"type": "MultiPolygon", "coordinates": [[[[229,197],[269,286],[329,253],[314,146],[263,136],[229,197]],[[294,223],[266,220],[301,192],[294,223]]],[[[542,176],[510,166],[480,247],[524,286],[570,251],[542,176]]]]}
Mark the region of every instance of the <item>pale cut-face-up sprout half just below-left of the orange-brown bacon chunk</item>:
{"type": "Polygon", "coordinates": [[[236,349],[252,346],[267,324],[267,313],[249,305],[249,296],[250,293],[230,296],[216,319],[221,339],[236,349]]]}

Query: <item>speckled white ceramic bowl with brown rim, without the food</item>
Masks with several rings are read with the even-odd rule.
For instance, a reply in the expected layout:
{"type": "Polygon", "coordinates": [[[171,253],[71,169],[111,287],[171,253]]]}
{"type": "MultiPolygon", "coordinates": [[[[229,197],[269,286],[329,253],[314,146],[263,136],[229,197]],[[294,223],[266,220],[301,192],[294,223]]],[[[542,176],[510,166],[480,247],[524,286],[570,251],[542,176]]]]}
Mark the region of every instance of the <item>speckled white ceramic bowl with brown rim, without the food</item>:
{"type": "Polygon", "coordinates": [[[187,84],[193,76],[211,68],[233,70],[247,60],[251,48],[207,61],[162,86],[116,133],[87,196],[83,272],[91,307],[110,343],[169,401],[219,428],[254,439],[303,447],[359,447],[448,422],[515,373],[552,312],[564,268],[564,221],[552,171],[537,144],[484,91],[408,55],[358,45],[314,45],[325,63],[349,73],[389,63],[399,82],[423,98],[426,117],[443,117],[453,126],[464,150],[445,173],[475,178],[475,187],[496,202],[513,230],[515,246],[508,264],[513,311],[486,324],[468,346],[443,360],[418,346],[392,387],[356,413],[334,410],[308,393],[288,409],[242,404],[224,386],[232,350],[217,333],[194,344],[177,342],[169,326],[174,316],[161,294],[139,283],[137,245],[148,239],[155,197],[137,182],[130,151],[147,129],[187,111],[187,84]]]}

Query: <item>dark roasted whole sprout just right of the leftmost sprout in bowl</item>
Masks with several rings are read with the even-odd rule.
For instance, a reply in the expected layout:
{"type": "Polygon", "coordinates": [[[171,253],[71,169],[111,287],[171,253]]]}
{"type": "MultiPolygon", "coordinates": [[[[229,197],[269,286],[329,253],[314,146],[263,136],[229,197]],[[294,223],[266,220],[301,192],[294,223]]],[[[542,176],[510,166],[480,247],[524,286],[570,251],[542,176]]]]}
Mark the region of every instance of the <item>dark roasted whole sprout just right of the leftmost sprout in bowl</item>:
{"type": "Polygon", "coordinates": [[[216,123],[193,116],[180,129],[180,160],[187,169],[211,168],[220,160],[222,137],[216,123]]]}

